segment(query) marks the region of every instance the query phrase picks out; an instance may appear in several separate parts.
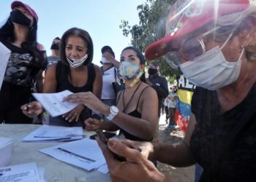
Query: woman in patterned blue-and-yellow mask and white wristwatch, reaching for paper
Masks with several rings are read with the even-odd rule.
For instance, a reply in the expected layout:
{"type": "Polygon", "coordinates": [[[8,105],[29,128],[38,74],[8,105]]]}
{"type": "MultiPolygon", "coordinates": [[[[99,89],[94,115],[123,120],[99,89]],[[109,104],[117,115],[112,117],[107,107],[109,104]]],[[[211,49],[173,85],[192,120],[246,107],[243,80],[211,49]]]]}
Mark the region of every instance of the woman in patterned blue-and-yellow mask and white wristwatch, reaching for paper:
{"type": "Polygon", "coordinates": [[[124,137],[134,141],[151,141],[158,127],[157,92],[145,82],[145,58],[135,47],[121,53],[119,74],[125,80],[125,89],[118,92],[116,106],[107,106],[89,92],[69,95],[67,100],[84,103],[111,122],[86,120],[86,130],[121,130],[124,137]],[[144,82],[142,82],[144,81],[144,82]]]}

